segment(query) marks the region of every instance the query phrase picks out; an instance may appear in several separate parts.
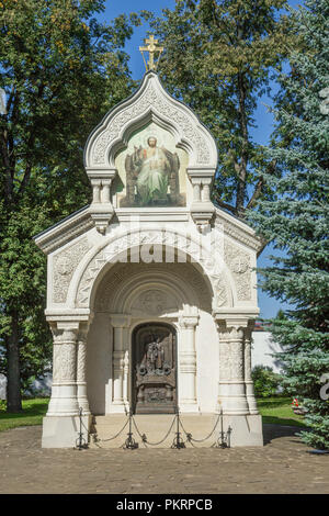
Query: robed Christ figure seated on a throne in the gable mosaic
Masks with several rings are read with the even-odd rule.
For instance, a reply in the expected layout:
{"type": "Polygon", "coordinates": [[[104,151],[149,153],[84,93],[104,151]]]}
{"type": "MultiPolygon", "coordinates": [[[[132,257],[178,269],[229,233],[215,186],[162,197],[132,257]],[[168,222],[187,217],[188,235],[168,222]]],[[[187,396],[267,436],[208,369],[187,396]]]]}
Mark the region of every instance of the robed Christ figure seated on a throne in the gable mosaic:
{"type": "Polygon", "coordinates": [[[155,136],[150,136],[147,144],[147,148],[135,147],[134,153],[127,155],[125,168],[136,178],[139,205],[166,204],[168,186],[178,177],[179,157],[164,147],[158,147],[155,136]]]}

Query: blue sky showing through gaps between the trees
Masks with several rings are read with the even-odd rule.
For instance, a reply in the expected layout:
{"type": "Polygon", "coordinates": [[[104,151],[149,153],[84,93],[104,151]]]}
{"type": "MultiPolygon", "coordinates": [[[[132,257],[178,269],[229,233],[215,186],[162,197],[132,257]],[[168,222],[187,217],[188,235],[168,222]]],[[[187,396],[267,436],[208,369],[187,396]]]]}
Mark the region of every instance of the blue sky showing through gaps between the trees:
{"type": "MultiPolygon", "coordinates": [[[[161,15],[162,9],[172,9],[175,4],[174,0],[120,0],[120,1],[106,1],[105,12],[100,14],[99,20],[113,20],[122,13],[137,12],[139,10],[152,11],[156,15],[161,15]]],[[[297,8],[299,4],[303,4],[300,1],[291,0],[288,4],[293,8],[297,8]]],[[[141,55],[139,53],[139,46],[144,44],[144,38],[149,26],[147,23],[140,27],[135,29],[134,35],[127,42],[125,51],[131,56],[131,70],[133,78],[138,80],[143,77],[145,72],[145,66],[143,63],[141,55]]],[[[275,85],[272,85],[275,88],[275,85]]],[[[269,143],[269,137],[273,130],[273,117],[268,112],[266,105],[271,105],[271,100],[266,97],[261,99],[260,105],[256,113],[256,122],[258,127],[252,130],[252,135],[254,141],[265,145],[269,143]]],[[[258,260],[259,267],[271,266],[271,260],[269,259],[270,255],[276,254],[273,247],[270,245],[262,253],[261,257],[258,260]]],[[[261,309],[261,316],[264,318],[273,317],[276,315],[280,309],[287,309],[287,304],[283,304],[273,298],[270,298],[268,294],[259,289],[258,291],[259,306],[261,309]]]]}

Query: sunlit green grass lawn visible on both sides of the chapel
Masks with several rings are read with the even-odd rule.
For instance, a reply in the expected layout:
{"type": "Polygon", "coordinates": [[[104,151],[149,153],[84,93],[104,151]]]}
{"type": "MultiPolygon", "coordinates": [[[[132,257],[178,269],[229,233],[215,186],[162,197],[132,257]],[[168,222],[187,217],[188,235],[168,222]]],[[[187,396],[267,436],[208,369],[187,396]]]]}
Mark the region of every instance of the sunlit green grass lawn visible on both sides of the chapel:
{"type": "MultiPolygon", "coordinates": [[[[36,397],[35,400],[23,400],[23,412],[20,414],[8,414],[0,411],[0,431],[16,426],[41,425],[48,403],[49,400],[46,397],[36,397]]],[[[263,423],[305,427],[303,416],[293,413],[290,397],[258,399],[257,403],[259,412],[263,416],[263,423]]]]}

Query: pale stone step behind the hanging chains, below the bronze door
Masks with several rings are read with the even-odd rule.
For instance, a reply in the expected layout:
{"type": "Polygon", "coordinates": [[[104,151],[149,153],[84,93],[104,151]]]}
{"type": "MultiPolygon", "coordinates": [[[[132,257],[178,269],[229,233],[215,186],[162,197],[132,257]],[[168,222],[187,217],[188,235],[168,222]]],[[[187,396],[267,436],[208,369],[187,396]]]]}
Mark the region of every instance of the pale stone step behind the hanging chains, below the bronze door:
{"type": "MultiPolygon", "coordinates": [[[[202,442],[192,441],[192,444],[188,441],[186,435],[180,426],[180,437],[185,442],[186,447],[192,448],[195,446],[197,448],[209,448],[216,444],[222,429],[220,418],[218,418],[217,414],[184,414],[180,416],[180,418],[185,433],[191,434],[192,438],[197,440],[203,440],[209,436],[216,425],[215,430],[206,440],[202,442]]],[[[134,422],[140,435],[136,430],[134,423],[132,423],[133,438],[138,442],[139,448],[170,448],[177,437],[177,422],[173,423],[173,414],[136,414],[134,415],[134,422]],[[140,437],[144,434],[148,441],[146,444],[140,437]],[[163,440],[164,437],[166,439],[163,440]]],[[[90,448],[123,447],[129,431],[128,417],[124,414],[94,416],[91,431],[93,434],[91,434],[90,448]],[[125,424],[126,426],[122,430],[125,424]],[[120,430],[122,430],[121,434],[113,438],[120,430]],[[94,442],[93,436],[97,436],[97,442],[94,442]]]]}

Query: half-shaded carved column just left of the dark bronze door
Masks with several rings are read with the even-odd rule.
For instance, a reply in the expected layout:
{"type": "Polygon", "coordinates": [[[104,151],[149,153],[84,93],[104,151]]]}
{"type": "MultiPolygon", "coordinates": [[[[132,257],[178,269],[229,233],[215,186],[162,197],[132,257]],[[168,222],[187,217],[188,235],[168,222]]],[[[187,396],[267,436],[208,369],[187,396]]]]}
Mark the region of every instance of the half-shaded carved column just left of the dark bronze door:
{"type": "Polygon", "coordinates": [[[128,325],[129,318],[125,315],[112,315],[111,324],[113,326],[113,396],[111,412],[123,413],[127,401],[128,392],[128,325]]]}

